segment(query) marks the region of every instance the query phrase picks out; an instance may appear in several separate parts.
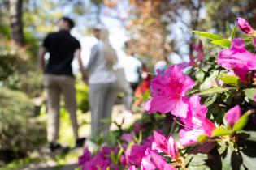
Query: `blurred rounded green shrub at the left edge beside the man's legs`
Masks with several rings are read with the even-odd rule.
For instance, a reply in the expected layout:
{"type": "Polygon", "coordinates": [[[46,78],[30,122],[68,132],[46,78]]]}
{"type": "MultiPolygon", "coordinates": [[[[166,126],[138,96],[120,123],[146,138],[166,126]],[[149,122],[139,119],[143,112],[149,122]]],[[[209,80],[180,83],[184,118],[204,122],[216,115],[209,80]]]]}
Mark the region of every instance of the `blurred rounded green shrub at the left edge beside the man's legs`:
{"type": "Polygon", "coordinates": [[[27,155],[46,142],[46,128],[33,116],[33,103],[23,92],[0,89],[0,151],[27,155]]]}

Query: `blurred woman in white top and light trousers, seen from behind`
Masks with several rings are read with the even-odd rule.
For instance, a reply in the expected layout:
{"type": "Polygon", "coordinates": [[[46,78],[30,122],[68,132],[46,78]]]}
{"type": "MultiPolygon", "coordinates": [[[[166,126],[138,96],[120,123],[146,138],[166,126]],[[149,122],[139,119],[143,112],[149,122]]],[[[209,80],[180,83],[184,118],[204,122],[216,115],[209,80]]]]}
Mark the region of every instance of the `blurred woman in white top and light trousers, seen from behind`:
{"type": "Polygon", "coordinates": [[[108,31],[103,27],[94,28],[94,36],[98,43],[91,49],[89,64],[89,104],[91,109],[92,137],[109,131],[102,129],[101,120],[111,118],[112,107],[115,103],[116,77],[113,66],[117,62],[115,50],[111,47],[108,31]]]}

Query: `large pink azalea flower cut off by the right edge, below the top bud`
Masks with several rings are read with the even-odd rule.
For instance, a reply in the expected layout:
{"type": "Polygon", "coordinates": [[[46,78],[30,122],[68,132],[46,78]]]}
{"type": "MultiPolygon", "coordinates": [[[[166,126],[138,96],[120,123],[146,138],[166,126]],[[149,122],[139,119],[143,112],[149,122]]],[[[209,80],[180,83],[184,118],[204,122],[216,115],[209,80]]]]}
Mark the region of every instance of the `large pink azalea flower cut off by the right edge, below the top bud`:
{"type": "Polygon", "coordinates": [[[233,70],[242,81],[248,81],[247,74],[256,70],[256,56],[245,49],[245,42],[241,38],[232,40],[229,49],[220,51],[217,62],[228,70],[233,70]]]}

